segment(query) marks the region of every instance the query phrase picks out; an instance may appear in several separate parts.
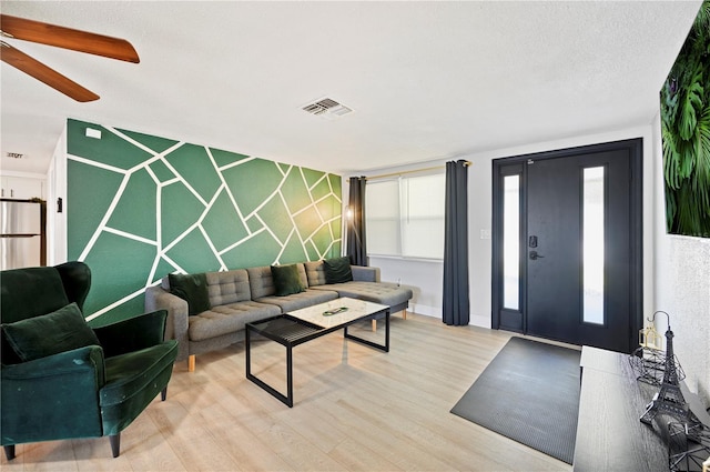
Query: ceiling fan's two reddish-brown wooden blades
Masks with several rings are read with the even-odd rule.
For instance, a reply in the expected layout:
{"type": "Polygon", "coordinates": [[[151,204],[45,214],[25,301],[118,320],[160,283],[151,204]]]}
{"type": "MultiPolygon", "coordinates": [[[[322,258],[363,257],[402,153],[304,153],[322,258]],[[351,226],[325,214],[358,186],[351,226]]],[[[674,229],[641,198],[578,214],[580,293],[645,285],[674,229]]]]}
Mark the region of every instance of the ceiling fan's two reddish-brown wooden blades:
{"type": "MultiPolygon", "coordinates": [[[[39,42],[57,48],[71,49],[89,54],[103,56],[126,62],[140,62],[130,42],[120,38],[74,30],[41,21],[0,14],[0,34],[6,38],[39,42]]],[[[99,96],[57,72],[52,68],[26,54],[11,44],[0,41],[3,62],[21,70],[49,87],[80,102],[98,100],[99,96]]]]}

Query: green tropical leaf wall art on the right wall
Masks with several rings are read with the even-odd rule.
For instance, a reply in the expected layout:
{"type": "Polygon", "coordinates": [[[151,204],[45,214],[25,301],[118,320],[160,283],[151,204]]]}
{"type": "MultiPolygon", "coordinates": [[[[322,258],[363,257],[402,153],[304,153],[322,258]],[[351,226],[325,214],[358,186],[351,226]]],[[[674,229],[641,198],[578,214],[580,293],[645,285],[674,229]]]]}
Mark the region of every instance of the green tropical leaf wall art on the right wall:
{"type": "Polygon", "coordinates": [[[660,93],[669,233],[710,238],[710,0],[660,93]]]}

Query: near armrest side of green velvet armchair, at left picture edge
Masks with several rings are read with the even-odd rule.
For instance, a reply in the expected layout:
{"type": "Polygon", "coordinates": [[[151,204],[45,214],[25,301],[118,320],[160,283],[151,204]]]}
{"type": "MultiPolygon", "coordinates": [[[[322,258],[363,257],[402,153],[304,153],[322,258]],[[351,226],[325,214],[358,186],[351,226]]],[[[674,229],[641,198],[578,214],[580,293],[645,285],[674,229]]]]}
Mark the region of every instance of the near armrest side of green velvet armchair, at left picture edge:
{"type": "Polygon", "coordinates": [[[102,435],[103,350],[88,345],[2,365],[2,445],[102,435]]]}

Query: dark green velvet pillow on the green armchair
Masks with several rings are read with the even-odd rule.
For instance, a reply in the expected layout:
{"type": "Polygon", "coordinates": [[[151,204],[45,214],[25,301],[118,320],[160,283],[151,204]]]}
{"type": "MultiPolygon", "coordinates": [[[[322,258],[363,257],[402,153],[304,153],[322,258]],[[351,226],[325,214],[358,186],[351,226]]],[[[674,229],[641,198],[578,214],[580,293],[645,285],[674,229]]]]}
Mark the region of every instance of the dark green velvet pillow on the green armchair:
{"type": "Polygon", "coordinates": [[[6,340],[23,362],[87,345],[101,345],[77,303],[2,325],[6,340]]]}

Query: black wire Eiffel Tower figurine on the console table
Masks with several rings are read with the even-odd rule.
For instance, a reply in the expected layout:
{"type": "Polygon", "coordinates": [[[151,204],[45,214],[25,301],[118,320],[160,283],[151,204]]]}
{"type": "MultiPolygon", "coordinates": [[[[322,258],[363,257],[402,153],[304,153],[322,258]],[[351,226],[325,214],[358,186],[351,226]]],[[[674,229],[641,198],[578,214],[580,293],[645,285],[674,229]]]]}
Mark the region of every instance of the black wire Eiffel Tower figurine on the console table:
{"type": "Polygon", "coordinates": [[[698,424],[700,420],[690,411],[688,402],[678,384],[678,371],[673,355],[673,332],[670,324],[666,331],[666,366],[660,390],[653,395],[653,400],[646,406],[641,422],[651,424],[658,413],[668,414],[684,424],[698,424]]]}

